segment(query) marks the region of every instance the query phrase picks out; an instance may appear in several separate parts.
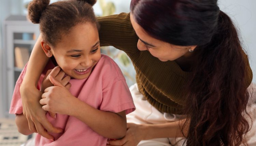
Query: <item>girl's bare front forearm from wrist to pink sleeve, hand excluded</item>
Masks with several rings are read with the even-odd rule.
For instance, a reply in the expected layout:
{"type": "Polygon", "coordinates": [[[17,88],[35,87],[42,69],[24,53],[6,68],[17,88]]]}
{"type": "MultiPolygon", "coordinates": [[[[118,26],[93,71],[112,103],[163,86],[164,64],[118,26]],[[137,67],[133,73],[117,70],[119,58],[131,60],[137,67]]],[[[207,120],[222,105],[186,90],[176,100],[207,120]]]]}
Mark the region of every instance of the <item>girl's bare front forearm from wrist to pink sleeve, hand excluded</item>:
{"type": "Polygon", "coordinates": [[[69,115],[84,122],[98,134],[110,139],[121,139],[125,136],[127,129],[125,111],[119,113],[101,111],[77,98],[73,102],[73,107],[74,110],[71,110],[69,115]]]}

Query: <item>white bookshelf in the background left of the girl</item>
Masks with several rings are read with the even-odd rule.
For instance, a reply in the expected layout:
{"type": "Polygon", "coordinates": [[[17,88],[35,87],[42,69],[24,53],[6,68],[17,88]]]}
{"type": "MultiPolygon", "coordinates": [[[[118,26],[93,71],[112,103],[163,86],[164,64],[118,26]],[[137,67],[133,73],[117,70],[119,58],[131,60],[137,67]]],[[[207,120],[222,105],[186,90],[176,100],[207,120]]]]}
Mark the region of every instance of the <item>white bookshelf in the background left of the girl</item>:
{"type": "MultiPolygon", "coordinates": [[[[3,23],[3,49],[2,49],[2,115],[5,118],[13,118],[9,114],[10,104],[15,83],[22,68],[15,66],[15,47],[26,47],[31,53],[34,43],[39,36],[39,25],[27,21],[26,16],[12,15],[3,23]]],[[[1,111],[1,110],[0,110],[1,111]]],[[[1,114],[0,114],[1,115],[1,114]]]]}

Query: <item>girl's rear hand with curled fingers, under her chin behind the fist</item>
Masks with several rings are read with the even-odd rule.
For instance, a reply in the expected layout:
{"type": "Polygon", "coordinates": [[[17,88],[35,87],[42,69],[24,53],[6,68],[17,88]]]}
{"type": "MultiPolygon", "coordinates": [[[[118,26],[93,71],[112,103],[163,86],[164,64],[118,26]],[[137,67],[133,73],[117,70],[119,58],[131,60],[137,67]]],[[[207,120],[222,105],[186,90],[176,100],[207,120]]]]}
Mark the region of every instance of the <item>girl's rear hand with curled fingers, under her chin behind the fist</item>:
{"type": "Polygon", "coordinates": [[[49,76],[54,77],[57,81],[59,81],[63,86],[65,86],[68,90],[71,87],[71,84],[69,83],[70,76],[65,76],[65,72],[61,70],[59,66],[55,67],[52,70],[48,70],[46,72],[46,75],[44,76],[42,85],[41,85],[41,92],[44,92],[44,90],[48,87],[53,86],[51,81],[49,80],[49,76]],[[65,77],[64,77],[65,76],[65,77]]]}

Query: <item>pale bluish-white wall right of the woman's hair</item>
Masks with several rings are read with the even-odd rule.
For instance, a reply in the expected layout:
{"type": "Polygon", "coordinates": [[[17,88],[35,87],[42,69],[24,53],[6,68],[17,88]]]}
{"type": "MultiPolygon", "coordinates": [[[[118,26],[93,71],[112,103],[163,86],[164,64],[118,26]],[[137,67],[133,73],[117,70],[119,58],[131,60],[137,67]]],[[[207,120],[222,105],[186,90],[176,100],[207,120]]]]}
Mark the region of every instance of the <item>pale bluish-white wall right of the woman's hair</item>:
{"type": "Polygon", "coordinates": [[[253,81],[256,83],[256,1],[219,0],[218,3],[220,9],[226,12],[240,29],[240,37],[253,70],[253,81]]]}

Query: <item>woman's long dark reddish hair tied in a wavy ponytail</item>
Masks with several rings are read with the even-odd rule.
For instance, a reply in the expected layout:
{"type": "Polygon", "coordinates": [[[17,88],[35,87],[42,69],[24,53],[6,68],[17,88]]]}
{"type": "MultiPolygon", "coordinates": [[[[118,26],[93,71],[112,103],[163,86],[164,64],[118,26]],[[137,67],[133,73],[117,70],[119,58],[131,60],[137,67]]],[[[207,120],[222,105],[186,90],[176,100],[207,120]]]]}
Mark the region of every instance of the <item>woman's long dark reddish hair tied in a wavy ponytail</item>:
{"type": "Polygon", "coordinates": [[[184,133],[186,144],[246,145],[245,133],[250,126],[244,114],[252,71],[237,30],[219,10],[217,0],[132,0],[131,13],[156,39],[197,45],[200,57],[184,85],[189,127],[184,133]]]}

